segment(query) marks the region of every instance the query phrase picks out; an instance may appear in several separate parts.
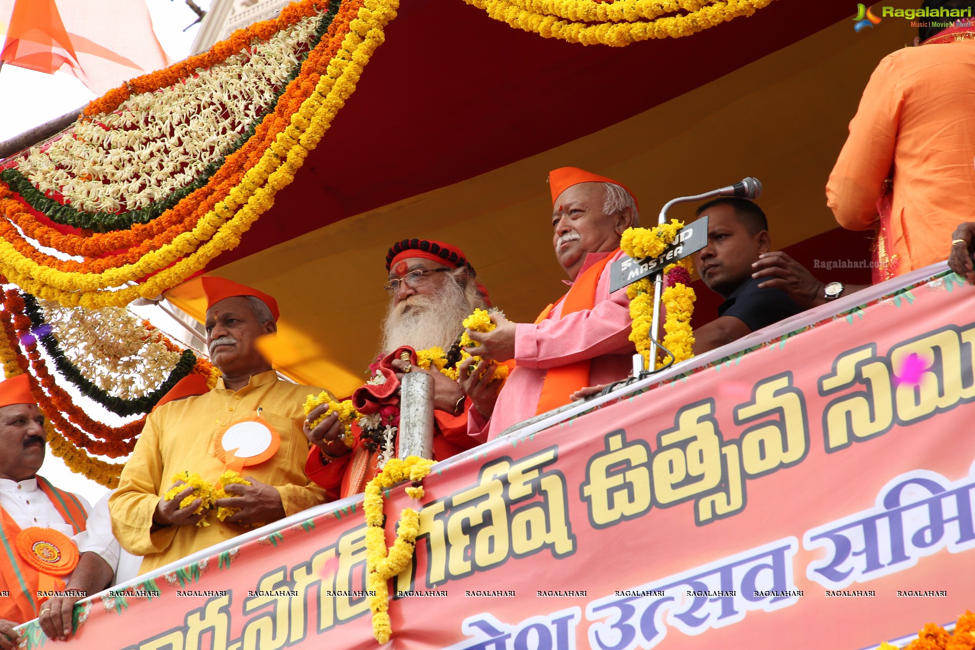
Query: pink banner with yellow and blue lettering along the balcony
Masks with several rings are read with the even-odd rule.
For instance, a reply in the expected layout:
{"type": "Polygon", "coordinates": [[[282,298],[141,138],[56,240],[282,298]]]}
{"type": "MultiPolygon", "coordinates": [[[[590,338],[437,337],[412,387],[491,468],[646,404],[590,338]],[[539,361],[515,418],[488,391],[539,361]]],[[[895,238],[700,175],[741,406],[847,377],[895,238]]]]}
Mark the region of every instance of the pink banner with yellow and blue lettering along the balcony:
{"type": "MultiPolygon", "coordinates": [[[[937,278],[434,466],[392,646],[856,650],[954,621],[975,604],[973,306],[937,278]]],[[[338,505],[94,598],[70,643],[375,647],[361,502],[338,505]]],[[[407,505],[390,490],[390,544],[407,505]]]]}

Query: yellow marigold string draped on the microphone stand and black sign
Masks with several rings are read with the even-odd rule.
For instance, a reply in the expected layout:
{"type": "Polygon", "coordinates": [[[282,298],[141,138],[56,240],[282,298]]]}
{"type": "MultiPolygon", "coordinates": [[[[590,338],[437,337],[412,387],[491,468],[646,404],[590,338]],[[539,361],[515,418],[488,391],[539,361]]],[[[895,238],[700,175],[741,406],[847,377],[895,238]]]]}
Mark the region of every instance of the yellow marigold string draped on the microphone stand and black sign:
{"type": "MultiPolygon", "coordinates": [[[[620,248],[630,257],[642,259],[644,257],[658,257],[670,244],[674,242],[678,231],[683,228],[683,222],[672,219],[670,223],[663,223],[654,228],[628,228],[620,238],[620,248]]],[[[666,288],[662,301],[666,318],[664,320],[664,338],[661,345],[674,355],[674,363],[681,363],[694,356],[694,332],[690,326],[691,316],[694,314],[694,289],[690,285],[690,274],[693,271],[690,257],[684,257],[676,264],[664,268],[666,288]]],[[[650,328],[653,323],[653,279],[643,278],[626,288],[630,298],[630,318],[633,328],[630,340],[637,347],[637,352],[643,355],[645,365],[648,366],[651,349],[650,328]]],[[[654,367],[661,367],[664,359],[657,359],[654,354],[654,367]]]]}

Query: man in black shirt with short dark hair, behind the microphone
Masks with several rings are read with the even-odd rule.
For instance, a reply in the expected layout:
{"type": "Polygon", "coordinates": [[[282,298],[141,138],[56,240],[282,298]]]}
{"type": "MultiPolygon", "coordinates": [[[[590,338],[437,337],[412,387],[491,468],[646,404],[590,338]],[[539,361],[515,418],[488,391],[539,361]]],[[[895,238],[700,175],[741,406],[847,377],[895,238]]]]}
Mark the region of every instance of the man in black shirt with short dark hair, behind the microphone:
{"type": "Polygon", "coordinates": [[[717,319],[694,330],[695,355],[863,288],[824,285],[786,253],[769,252],[768,222],[751,201],[715,199],[697,214],[708,215],[708,246],[694,253],[694,263],[724,302],[717,319]]]}

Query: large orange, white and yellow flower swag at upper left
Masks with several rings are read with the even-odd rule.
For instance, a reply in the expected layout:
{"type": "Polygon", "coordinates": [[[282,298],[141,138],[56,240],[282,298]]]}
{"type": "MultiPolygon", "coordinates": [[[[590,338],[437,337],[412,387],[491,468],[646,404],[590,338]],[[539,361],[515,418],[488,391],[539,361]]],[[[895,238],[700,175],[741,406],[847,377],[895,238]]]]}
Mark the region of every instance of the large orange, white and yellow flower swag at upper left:
{"type": "Polygon", "coordinates": [[[4,162],[0,273],[64,306],[123,306],[235,248],[355,92],[398,6],[301,0],[93,101],[4,162]]]}

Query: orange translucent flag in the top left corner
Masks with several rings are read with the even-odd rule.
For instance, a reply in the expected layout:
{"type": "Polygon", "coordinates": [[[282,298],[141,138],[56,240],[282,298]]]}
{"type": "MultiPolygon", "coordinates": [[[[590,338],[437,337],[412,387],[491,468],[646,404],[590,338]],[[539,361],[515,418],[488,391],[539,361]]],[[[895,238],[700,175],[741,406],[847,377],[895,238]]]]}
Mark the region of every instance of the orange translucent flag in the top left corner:
{"type": "Polygon", "coordinates": [[[0,61],[73,74],[98,95],[169,65],[145,0],[0,0],[0,61]]]}

